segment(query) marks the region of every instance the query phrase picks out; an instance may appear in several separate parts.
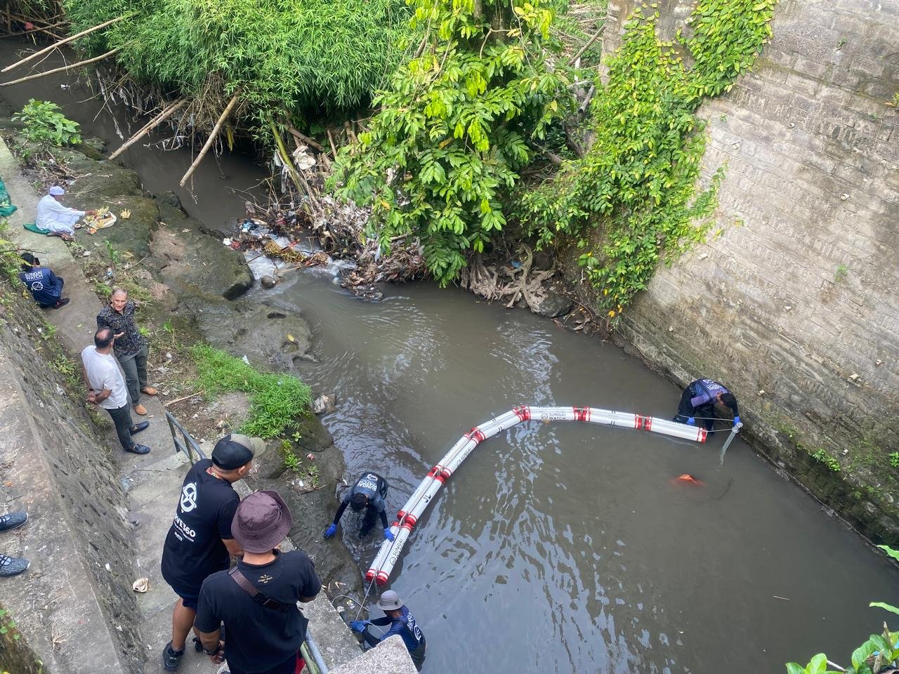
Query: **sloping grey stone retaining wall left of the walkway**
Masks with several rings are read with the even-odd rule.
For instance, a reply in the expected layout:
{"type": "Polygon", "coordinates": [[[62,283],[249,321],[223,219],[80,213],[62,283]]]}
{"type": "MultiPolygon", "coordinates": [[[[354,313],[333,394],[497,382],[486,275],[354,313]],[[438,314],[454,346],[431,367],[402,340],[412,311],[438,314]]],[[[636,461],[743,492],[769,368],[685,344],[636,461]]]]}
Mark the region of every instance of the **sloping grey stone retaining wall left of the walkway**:
{"type": "MultiPolygon", "coordinates": [[[[0,551],[25,557],[31,568],[4,579],[0,603],[43,671],[138,672],[146,647],[118,471],[85,406],[67,390],[58,335],[30,297],[6,279],[3,285],[0,493],[3,512],[27,510],[29,521],[2,535],[0,551]]],[[[0,664],[19,670],[23,657],[0,643],[0,664]]]]}

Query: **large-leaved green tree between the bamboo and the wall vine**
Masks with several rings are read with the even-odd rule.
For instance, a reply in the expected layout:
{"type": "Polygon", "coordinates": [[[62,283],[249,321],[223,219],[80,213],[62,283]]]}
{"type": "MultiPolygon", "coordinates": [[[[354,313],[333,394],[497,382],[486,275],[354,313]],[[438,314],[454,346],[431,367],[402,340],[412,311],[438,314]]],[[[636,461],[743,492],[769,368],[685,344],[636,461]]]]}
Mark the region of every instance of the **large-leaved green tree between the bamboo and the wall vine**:
{"type": "Polygon", "coordinates": [[[503,198],[532,138],[567,102],[547,69],[551,10],[540,0],[409,0],[420,56],[378,94],[360,143],[341,152],[338,194],[372,208],[382,248],[418,237],[445,285],[506,223],[503,198]]]}

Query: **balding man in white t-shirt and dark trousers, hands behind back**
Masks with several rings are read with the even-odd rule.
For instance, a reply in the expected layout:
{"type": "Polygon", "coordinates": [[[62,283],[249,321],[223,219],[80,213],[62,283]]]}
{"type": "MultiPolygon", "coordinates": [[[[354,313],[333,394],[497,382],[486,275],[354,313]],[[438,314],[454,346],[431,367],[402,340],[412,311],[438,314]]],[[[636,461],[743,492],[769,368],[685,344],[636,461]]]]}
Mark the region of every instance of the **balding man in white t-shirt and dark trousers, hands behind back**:
{"type": "Polygon", "coordinates": [[[131,436],[146,429],[150,422],[135,424],[131,421],[125,377],[121,376],[119,364],[111,354],[113,341],[115,335],[111,328],[101,328],[93,335],[94,346],[87,346],[81,352],[81,362],[84,364],[81,373],[85,377],[89,394],[87,402],[100,405],[110,413],[115,432],[126,452],[147,454],[150,448],[138,445],[131,436]]]}

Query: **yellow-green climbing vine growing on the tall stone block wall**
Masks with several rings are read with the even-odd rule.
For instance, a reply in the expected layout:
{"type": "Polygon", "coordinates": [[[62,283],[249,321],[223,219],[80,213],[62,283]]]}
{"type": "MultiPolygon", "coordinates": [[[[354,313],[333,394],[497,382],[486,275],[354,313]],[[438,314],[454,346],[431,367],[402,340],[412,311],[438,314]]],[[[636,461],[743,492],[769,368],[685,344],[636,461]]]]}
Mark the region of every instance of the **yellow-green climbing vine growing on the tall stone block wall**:
{"type": "Polygon", "coordinates": [[[645,288],[658,262],[705,241],[723,169],[697,188],[706,138],[694,112],[752,66],[770,37],[774,4],[701,0],[690,35],[679,31],[673,42],[656,35],[657,12],[637,10],[592,101],[592,148],[523,195],[521,222],[544,244],[578,237],[579,262],[610,318],[645,288]]]}

